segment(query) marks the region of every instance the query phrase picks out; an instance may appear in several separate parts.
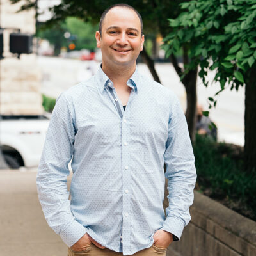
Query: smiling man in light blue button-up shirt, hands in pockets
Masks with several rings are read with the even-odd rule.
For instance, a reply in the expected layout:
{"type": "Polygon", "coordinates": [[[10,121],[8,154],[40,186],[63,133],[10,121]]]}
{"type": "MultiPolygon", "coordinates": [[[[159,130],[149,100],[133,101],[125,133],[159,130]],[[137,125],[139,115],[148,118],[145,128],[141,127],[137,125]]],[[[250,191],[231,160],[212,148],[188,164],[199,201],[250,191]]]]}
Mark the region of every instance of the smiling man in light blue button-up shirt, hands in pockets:
{"type": "Polygon", "coordinates": [[[170,90],[138,74],[144,35],[134,8],[106,10],[96,40],[99,71],[52,113],[36,178],[42,209],[68,255],[166,255],[190,220],[196,179],[184,113],[170,90]]]}

